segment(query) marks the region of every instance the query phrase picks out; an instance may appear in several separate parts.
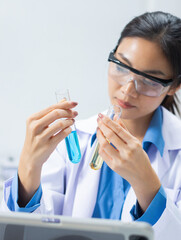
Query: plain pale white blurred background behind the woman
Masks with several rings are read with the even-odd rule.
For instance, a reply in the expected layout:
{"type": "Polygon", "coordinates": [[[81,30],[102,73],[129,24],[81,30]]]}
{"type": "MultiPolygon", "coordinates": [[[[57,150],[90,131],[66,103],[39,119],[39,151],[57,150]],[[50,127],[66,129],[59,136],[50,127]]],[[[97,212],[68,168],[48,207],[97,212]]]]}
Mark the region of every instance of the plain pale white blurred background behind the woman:
{"type": "Polygon", "coordinates": [[[26,119],[67,88],[77,120],[105,110],[107,58],[125,24],[146,11],[181,17],[180,9],[180,0],[0,0],[0,198],[26,119]]]}

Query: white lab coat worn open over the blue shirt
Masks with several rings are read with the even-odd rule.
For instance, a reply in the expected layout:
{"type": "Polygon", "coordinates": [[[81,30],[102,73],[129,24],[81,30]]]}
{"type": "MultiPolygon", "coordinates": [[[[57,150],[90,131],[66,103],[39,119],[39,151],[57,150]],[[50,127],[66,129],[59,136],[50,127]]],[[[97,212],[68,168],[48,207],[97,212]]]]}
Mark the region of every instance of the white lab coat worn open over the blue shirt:
{"type": "MultiPolygon", "coordinates": [[[[156,240],[181,239],[181,121],[163,110],[163,157],[155,148],[150,162],[167,193],[166,209],[154,224],[156,240]]],[[[42,169],[43,195],[41,205],[35,213],[60,214],[73,217],[91,217],[93,214],[100,170],[94,171],[89,163],[95,143],[91,147],[91,137],[95,133],[97,116],[77,122],[77,132],[81,146],[82,160],[72,164],[68,160],[64,141],[50,156],[42,169]]],[[[1,211],[9,211],[6,202],[12,179],[5,183],[1,211]]],[[[132,221],[130,210],[136,203],[136,196],[130,188],[125,200],[122,221],[132,221]]]]}

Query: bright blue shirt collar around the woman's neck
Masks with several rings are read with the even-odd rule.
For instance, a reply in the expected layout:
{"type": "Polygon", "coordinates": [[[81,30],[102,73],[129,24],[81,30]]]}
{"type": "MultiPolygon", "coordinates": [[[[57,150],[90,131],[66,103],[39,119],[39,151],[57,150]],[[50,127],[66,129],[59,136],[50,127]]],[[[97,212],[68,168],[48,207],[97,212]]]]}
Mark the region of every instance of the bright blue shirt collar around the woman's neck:
{"type": "MultiPolygon", "coordinates": [[[[154,144],[160,152],[160,155],[163,156],[163,150],[165,146],[165,141],[162,135],[162,110],[161,107],[158,107],[153,114],[150,125],[146,131],[146,134],[143,138],[143,149],[147,152],[151,144],[154,144]]],[[[96,139],[96,133],[93,134],[91,139],[91,146],[93,145],[96,139]]]]}

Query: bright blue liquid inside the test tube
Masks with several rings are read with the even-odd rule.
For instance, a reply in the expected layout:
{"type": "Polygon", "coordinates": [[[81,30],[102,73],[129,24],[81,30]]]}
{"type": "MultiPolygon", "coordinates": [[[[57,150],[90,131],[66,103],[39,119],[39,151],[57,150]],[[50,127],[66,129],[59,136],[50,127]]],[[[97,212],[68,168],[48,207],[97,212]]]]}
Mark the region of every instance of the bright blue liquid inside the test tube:
{"type": "Polygon", "coordinates": [[[72,131],[66,138],[65,143],[67,146],[67,152],[69,159],[72,163],[79,163],[81,159],[81,152],[77,132],[72,131]]]}

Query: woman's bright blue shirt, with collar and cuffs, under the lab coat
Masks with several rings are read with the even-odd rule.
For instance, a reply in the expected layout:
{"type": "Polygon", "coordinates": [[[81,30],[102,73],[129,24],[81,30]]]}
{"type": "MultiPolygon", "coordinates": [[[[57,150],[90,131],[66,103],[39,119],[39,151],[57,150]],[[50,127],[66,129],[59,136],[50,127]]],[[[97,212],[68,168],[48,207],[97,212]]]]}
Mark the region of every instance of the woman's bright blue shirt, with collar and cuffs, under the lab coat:
{"type": "MultiPolygon", "coordinates": [[[[161,156],[163,155],[164,140],[162,137],[162,111],[159,107],[150,122],[149,128],[143,139],[143,148],[147,152],[149,146],[154,144],[159,150],[161,156]]],[[[92,137],[92,143],[96,139],[96,134],[92,137]]],[[[112,171],[106,163],[103,164],[101,169],[99,190],[97,195],[97,201],[93,213],[93,217],[99,218],[111,218],[111,219],[121,219],[122,208],[126,195],[129,191],[130,184],[119,176],[117,173],[112,171]],[[104,173],[104,174],[102,174],[104,173]]],[[[8,199],[8,207],[12,211],[21,212],[32,212],[39,205],[42,196],[42,188],[39,186],[37,192],[34,194],[30,202],[25,206],[25,208],[20,208],[18,206],[18,175],[13,179],[10,196],[8,199]]],[[[154,224],[160,218],[166,207],[166,194],[163,187],[161,187],[152,200],[151,204],[144,212],[141,211],[138,202],[133,206],[131,210],[131,215],[133,220],[145,221],[150,224],[154,224]]]]}

